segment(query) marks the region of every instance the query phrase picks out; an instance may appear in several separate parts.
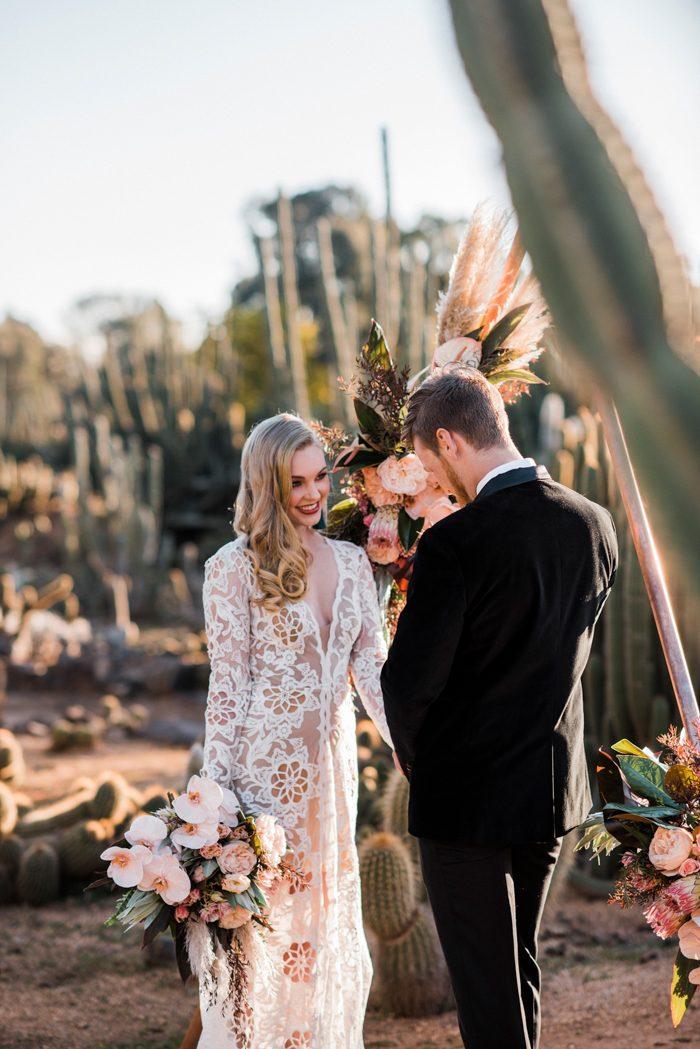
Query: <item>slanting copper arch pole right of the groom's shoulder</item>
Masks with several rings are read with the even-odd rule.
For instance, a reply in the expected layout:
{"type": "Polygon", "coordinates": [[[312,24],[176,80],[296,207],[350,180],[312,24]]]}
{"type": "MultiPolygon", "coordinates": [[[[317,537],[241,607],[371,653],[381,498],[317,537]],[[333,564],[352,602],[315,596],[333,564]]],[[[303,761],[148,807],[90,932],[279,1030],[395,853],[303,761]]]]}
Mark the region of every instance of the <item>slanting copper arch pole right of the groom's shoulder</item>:
{"type": "Polygon", "coordinates": [[[661,639],[661,647],[669,667],[676,703],[688,737],[697,744],[700,743],[700,709],[698,709],[698,701],[685,662],[685,654],[671,605],[663,568],[641,500],[620,419],[613,402],[604,395],[598,397],[596,407],[602,422],[610,456],[615,467],[615,476],[630,522],[630,532],[639,558],[644,585],[656,620],[656,628],[661,639]]]}

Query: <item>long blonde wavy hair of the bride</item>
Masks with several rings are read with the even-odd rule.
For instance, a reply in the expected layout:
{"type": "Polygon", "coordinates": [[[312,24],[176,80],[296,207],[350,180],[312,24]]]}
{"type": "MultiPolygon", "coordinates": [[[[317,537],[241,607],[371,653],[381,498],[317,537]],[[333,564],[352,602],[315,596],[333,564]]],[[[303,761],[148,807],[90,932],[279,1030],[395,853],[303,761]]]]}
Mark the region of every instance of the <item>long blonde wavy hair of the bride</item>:
{"type": "Polygon", "coordinates": [[[258,423],[243,445],[233,527],[248,537],[248,556],[262,594],[253,602],[271,612],[306,593],[310,555],[287,508],[292,458],[310,445],[321,448],[311,427],[291,412],[258,423]]]}

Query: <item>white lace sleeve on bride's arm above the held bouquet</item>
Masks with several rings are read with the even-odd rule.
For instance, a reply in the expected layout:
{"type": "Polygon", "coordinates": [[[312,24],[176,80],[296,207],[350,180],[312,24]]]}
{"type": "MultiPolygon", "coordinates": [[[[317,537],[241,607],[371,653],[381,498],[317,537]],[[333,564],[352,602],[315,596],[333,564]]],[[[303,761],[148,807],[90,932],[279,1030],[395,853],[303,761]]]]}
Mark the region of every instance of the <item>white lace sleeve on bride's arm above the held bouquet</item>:
{"type": "Polygon", "coordinates": [[[205,564],[211,671],[203,773],[222,787],[231,787],[233,752],[250,703],[250,562],[239,549],[224,548],[205,564]]]}

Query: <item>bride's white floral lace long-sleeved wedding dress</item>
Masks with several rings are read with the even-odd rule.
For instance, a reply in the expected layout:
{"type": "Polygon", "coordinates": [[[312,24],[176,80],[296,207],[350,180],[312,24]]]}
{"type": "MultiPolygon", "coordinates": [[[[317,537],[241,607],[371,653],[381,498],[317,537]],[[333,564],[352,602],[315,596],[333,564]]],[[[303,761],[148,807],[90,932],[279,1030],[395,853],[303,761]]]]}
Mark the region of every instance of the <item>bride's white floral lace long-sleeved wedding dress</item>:
{"type": "Polygon", "coordinates": [[[367,557],[333,548],[338,583],[323,637],[303,600],[270,613],[251,604],[245,537],[206,563],[211,662],[206,775],[245,811],[283,825],[303,885],[274,898],[266,955],[250,966],[250,1010],[201,997],[199,1049],[362,1049],[372,965],[355,848],[357,749],[349,677],[384,740],[379,682],[386,645],[367,557]]]}

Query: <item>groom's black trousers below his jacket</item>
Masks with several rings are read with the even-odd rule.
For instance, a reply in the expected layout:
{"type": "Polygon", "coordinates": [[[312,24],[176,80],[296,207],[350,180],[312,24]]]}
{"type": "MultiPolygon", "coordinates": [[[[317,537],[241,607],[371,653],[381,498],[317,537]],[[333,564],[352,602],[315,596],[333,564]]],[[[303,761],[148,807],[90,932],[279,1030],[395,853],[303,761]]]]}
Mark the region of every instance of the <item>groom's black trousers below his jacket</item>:
{"type": "Polygon", "coordinates": [[[537,933],[561,839],[421,838],[421,865],[467,1049],[536,1049],[537,933]]]}

